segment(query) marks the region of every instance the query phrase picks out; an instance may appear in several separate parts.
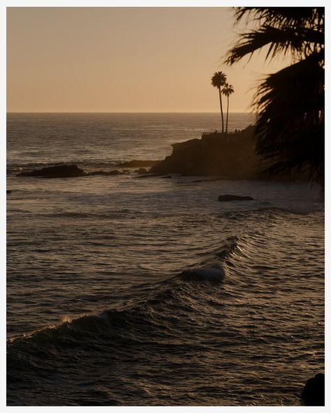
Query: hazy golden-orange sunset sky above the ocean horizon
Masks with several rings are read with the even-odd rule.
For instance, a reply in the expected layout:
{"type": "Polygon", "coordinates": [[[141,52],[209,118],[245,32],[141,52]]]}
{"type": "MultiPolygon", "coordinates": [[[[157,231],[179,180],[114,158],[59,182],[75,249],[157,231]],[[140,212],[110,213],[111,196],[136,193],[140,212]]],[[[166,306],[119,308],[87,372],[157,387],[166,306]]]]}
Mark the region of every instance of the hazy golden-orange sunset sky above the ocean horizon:
{"type": "Polygon", "coordinates": [[[228,7],[7,8],[7,112],[218,112],[219,70],[230,112],[250,112],[285,62],[225,66],[233,25],[228,7]]]}

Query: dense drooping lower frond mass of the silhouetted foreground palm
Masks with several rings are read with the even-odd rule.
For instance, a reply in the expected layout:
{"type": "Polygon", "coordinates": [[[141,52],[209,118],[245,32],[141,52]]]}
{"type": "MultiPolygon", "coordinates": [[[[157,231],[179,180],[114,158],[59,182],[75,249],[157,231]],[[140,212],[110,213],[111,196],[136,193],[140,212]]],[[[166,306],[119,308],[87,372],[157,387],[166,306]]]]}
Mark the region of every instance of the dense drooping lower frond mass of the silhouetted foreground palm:
{"type": "Polygon", "coordinates": [[[324,70],[319,58],[288,66],[260,85],[256,150],[272,161],[270,173],[307,170],[323,181],[324,70]]]}

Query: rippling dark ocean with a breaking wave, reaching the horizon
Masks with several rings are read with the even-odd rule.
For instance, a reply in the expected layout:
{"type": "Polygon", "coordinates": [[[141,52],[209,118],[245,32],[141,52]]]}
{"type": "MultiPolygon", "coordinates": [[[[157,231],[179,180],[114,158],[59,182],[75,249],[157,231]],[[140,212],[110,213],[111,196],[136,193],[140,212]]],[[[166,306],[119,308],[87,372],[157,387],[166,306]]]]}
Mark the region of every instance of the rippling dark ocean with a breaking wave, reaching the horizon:
{"type": "MultiPolygon", "coordinates": [[[[159,160],[219,118],[8,114],[8,405],[302,403],[324,370],[320,186],[17,177],[159,160]]],[[[230,131],[250,123],[229,115],[230,131]]]]}

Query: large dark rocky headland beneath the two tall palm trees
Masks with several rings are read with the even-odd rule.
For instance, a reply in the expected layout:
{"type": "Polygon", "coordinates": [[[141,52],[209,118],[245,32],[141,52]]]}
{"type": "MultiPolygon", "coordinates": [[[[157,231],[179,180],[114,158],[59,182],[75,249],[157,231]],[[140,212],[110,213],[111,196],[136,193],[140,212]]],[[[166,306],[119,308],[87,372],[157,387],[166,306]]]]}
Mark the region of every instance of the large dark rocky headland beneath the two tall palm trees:
{"type": "MultiPolygon", "coordinates": [[[[204,133],[201,139],[172,144],[172,154],[149,172],[154,174],[213,175],[219,179],[270,179],[264,171],[270,166],[256,154],[253,126],[240,133],[204,133]]],[[[279,181],[307,179],[283,174],[279,181]]]]}

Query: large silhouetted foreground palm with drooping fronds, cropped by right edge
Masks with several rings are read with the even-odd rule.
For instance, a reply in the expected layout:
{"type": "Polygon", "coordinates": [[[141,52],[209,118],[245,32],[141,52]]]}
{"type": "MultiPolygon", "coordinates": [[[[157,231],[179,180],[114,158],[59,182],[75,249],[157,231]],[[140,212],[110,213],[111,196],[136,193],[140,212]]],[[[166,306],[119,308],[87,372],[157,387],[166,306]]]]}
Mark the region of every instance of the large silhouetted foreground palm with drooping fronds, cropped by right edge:
{"type": "Polygon", "coordinates": [[[324,182],[324,8],[240,7],[235,18],[253,22],[228,52],[227,63],[265,47],[265,59],[292,57],[290,66],[258,87],[256,150],[269,172],[302,170],[324,182]]]}

